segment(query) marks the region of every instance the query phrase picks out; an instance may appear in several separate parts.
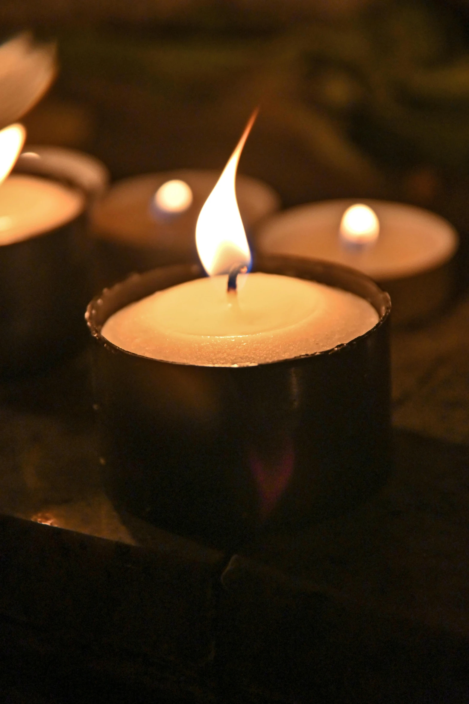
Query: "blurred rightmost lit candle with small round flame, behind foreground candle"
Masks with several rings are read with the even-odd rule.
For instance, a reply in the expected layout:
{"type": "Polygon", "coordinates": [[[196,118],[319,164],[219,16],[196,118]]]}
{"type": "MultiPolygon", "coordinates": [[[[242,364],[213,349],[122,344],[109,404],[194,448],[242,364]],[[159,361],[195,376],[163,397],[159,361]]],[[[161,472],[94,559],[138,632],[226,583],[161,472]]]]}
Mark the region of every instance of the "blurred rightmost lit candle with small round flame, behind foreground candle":
{"type": "Polygon", "coordinates": [[[323,259],[364,272],[390,292],[393,320],[430,315],[451,294],[454,228],[435,213],[401,203],[325,201],[297,206],[259,226],[264,254],[323,259]]]}

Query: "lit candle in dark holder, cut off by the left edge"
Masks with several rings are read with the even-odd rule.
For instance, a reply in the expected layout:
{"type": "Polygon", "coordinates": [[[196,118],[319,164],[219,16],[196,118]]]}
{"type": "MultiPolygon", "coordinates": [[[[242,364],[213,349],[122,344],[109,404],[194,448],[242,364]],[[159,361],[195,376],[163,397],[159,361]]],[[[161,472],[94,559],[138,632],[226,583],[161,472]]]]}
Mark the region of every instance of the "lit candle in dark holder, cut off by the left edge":
{"type": "Polygon", "coordinates": [[[84,193],[53,172],[8,175],[24,139],[21,125],[0,132],[1,375],[44,367],[71,349],[88,291],[84,193]]]}

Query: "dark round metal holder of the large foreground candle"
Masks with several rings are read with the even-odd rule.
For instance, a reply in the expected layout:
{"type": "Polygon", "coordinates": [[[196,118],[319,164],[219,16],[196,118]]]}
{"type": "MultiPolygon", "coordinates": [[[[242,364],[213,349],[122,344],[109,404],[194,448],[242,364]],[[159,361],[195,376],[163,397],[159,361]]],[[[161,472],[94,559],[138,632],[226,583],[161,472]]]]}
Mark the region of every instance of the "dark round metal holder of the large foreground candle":
{"type": "Polygon", "coordinates": [[[337,348],[255,367],[202,367],[123,351],[101,334],[117,310],[203,275],[198,265],[133,275],[89,304],[105,486],[134,518],[236,548],[342,512],[390,467],[390,298],[368,277],[269,257],[254,270],[362,296],[380,320],[337,348]]]}

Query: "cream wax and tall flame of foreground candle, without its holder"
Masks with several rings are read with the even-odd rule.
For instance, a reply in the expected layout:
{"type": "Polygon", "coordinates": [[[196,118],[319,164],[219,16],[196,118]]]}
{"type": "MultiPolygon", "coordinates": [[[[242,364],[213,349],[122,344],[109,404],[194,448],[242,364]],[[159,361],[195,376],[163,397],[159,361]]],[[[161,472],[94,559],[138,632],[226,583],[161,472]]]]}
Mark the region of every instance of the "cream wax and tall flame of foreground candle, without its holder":
{"type": "Polygon", "coordinates": [[[378,322],[364,298],[295,277],[240,275],[242,286],[230,295],[237,272],[251,264],[234,184],[254,119],[198,218],[195,240],[209,278],[157,291],[115,313],[103,328],[113,344],[168,362],[239,366],[322,352],[378,322]]]}

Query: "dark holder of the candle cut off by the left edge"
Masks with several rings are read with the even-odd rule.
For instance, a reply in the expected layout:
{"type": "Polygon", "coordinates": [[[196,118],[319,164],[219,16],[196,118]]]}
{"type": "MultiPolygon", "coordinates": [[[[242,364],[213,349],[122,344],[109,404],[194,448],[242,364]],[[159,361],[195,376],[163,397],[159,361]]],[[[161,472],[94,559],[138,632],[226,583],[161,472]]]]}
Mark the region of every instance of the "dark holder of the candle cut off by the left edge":
{"type": "MultiPolygon", "coordinates": [[[[39,157],[40,159],[40,157],[39,157]]],[[[63,181],[46,169],[36,177],[63,181]]],[[[28,172],[22,162],[18,170],[28,172]]],[[[70,185],[69,175],[66,184],[70,185]]],[[[82,190],[77,179],[75,187],[82,190]]],[[[0,375],[49,366],[86,339],[90,241],[84,208],[48,232],[0,246],[0,375]]]]}

